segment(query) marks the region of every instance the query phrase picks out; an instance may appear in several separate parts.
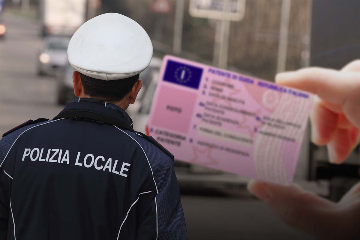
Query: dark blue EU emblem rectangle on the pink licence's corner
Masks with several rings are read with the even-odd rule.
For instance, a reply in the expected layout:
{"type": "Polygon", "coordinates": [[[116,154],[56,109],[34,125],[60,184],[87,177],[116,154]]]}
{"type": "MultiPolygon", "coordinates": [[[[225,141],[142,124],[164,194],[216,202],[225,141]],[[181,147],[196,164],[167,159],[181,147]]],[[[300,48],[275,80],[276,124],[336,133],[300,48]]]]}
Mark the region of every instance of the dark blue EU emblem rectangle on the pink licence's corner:
{"type": "Polygon", "coordinates": [[[165,68],[164,81],[199,89],[202,73],[202,68],[168,60],[165,68]]]}

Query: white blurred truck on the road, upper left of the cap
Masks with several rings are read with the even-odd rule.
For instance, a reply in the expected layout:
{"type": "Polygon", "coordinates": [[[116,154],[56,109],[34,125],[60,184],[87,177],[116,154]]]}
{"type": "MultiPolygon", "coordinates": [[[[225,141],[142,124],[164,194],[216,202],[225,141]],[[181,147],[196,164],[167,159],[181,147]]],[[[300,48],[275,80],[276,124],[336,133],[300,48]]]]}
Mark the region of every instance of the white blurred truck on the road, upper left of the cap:
{"type": "Polygon", "coordinates": [[[41,35],[72,35],[85,22],[86,0],[40,1],[41,35]]]}

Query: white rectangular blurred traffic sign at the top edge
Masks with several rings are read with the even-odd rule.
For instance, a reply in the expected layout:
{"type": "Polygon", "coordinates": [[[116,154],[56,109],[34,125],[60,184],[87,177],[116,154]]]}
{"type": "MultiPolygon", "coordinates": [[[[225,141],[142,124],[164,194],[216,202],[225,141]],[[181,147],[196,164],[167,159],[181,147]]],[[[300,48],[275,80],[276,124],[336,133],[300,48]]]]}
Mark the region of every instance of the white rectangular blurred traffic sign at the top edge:
{"type": "Polygon", "coordinates": [[[245,15],[245,0],[190,0],[192,17],[241,21],[245,15]]]}

